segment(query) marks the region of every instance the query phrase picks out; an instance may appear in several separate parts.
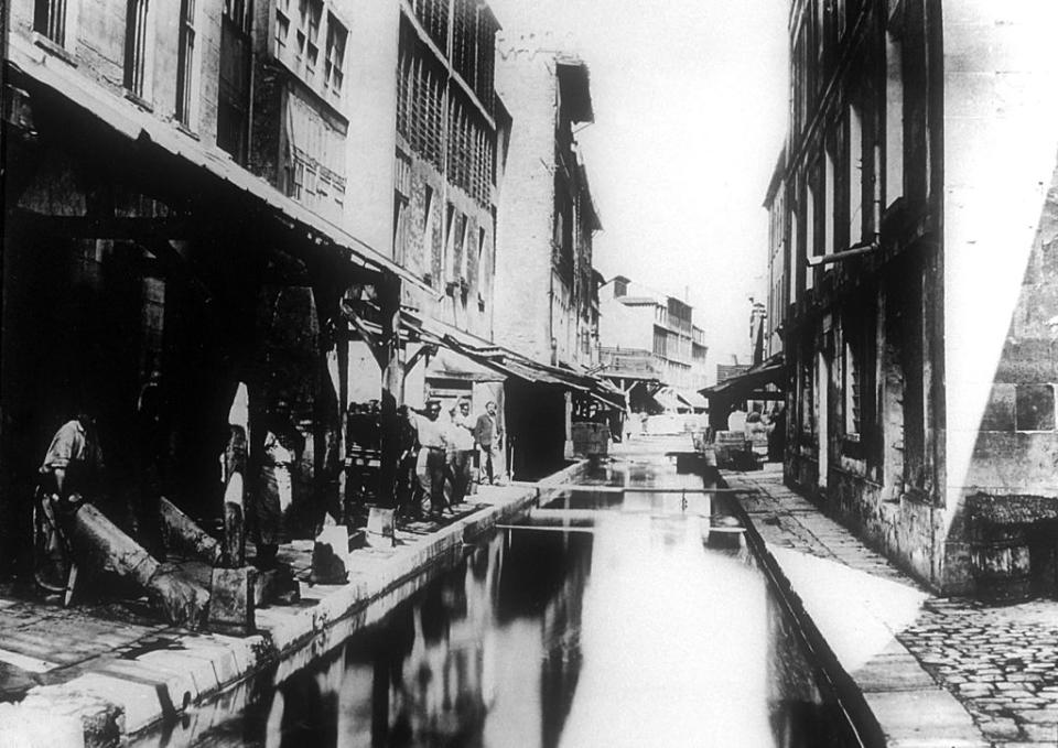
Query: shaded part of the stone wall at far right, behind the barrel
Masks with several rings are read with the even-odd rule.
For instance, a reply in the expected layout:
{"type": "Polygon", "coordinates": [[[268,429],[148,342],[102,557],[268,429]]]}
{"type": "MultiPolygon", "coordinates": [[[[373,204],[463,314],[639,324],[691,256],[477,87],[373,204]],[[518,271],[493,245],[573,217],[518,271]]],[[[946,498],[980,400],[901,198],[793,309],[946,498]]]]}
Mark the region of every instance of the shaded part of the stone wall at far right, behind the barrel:
{"type": "Polygon", "coordinates": [[[979,596],[1058,596],[1058,169],[963,485],[979,596]]]}

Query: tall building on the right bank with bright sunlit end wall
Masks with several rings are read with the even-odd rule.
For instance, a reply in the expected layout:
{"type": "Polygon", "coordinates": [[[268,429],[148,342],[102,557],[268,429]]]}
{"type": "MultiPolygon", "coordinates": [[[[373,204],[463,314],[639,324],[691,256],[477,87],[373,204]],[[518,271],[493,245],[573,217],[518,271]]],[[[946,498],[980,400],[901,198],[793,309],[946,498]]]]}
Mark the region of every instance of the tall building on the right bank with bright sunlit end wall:
{"type": "Polygon", "coordinates": [[[1056,15],[790,6],[767,197],[787,479],[944,592],[1058,588],[1056,15]]]}

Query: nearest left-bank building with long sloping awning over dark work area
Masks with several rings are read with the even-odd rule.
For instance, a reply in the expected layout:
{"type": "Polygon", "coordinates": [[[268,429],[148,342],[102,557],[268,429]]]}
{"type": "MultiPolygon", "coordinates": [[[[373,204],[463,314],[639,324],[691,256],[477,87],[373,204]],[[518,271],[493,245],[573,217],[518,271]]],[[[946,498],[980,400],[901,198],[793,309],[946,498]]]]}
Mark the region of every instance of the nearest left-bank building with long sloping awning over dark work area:
{"type": "Polygon", "coordinates": [[[397,68],[397,6],[7,11],[0,498],[25,503],[74,408],[94,411],[116,492],[131,490],[150,386],[166,496],[216,512],[239,381],[255,438],[290,406],[301,490],[324,491],[344,402],[328,360],[345,366],[347,317],[376,310],[357,329],[381,330],[395,372],[397,289],[423,285],[391,257],[397,87],[377,82],[397,68]]]}

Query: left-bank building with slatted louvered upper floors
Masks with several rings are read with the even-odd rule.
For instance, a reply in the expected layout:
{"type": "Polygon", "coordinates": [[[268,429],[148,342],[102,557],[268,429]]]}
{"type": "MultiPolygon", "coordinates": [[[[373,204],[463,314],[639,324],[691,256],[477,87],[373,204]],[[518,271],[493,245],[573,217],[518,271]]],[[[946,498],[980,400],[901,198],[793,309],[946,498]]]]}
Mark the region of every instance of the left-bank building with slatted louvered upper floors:
{"type": "MultiPolygon", "coordinates": [[[[409,289],[403,301],[423,318],[492,340],[499,149],[510,131],[494,87],[499,24],[469,0],[399,4],[393,251],[430,289],[409,289]]],[[[414,370],[406,397],[476,389],[485,401],[501,397],[503,380],[442,350],[414,370]]]]}

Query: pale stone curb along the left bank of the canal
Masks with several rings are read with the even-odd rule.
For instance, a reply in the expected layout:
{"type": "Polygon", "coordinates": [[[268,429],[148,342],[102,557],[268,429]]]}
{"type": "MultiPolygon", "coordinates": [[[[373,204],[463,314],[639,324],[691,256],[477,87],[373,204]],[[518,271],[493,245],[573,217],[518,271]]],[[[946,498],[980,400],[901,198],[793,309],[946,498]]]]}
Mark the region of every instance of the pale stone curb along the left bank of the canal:
{"type": "MultiPolygon", "coordinates": [[[[574,463],[540,485],[572,480],[586,464],[574,463]]],[[[512,498],[499,497],[428,541],[397,551],[377,568],[358,573],[354,562],[348,583],[316,585],[326,590],[316,605],[294,616],[274,608],[259,610],[261,633],[236,638],[173,630],[182,649],[89,662],[86,672],[66,683],[31,689],[18,705],[0,704],[0,748],[111,748],[272,663],[279,662],[276,679],[281,681],[381,618],[440,570],[456,563],[466,543],[523,513],[539,495],[539,489],[526,486],[512,498]]]]}

